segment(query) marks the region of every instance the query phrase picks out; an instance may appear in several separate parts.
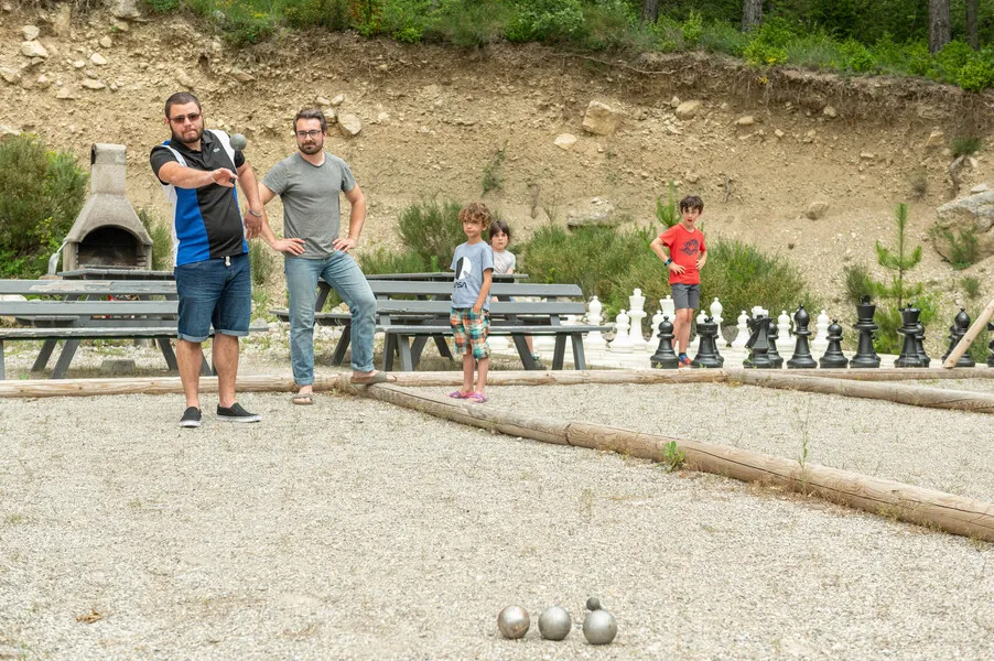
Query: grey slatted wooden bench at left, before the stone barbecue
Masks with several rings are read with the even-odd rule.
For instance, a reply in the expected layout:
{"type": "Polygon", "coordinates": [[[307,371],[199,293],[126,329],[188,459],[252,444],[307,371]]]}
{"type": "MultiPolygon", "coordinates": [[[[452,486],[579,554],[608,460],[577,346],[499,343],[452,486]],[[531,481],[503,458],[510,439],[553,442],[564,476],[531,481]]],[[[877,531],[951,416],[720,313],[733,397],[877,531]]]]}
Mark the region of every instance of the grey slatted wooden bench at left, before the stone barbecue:
{"type": "MultiPolygon", "coordinates": [[[[166,367],[176,370],[170,339],[177,335],[179,301],[172,281],[111,280],[0,280],[0,295],[37,296],[37,300],[0,300],[0,317],[13,317],[25,326],[0,327],[0,379],[7,378],[3,343],[41,339],[32,371],[45,369],[60,340],[63,348],[52,372],[65,378],[83,339],[154,339],[166,367]],[[119,300],[128,296],[137,300],[119,300]],[[110,297],[110,299],[108,299],[110,297]],[[154,300],[153,300],[154,297],[154,300]]],[[[257,326],[250,330],[264,330],[257,326]]],[[[206,358],[201,372],[212,373],[206,358]]]]}

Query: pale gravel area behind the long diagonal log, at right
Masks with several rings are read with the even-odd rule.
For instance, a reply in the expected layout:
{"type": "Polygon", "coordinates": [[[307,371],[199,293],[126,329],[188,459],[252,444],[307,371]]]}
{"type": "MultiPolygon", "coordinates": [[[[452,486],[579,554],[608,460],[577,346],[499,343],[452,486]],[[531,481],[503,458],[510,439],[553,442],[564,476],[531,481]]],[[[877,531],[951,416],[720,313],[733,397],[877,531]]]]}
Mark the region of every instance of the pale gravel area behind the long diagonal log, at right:
{"type": "MultiPolygon", "coordinates": [[[[994,380],[932,388],[994,391],[994,380]],[[986,390],[984,390],[986,389],[986,390]]],[[[753,386],[575,386],[570,397],[504,389],[496,405],[745,447],[994,501],[991,415],[753,386]],[[582,413],[576,404],[582,402],[582,413]]]]}

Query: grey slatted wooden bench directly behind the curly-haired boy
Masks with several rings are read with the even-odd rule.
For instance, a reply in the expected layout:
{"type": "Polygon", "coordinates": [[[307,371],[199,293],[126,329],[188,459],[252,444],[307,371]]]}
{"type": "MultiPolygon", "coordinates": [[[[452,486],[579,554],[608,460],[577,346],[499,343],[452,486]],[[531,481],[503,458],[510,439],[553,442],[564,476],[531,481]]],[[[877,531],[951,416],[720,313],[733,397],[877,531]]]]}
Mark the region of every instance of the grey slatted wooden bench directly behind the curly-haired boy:
{"type": "MultiPolygon", "coordinates": [[[[452,328],[449,326],[451,282],[370,280],[369,286],[377,297],[376,329],[387,336],[383,350],[385,370],[393,368],[395,354],[400,359],[400,369],[410,371],[417,368],[429,339],[434,339],[443,357],[452,357],[446,342],[446,337],[452,336],[452,328]]],[[[321,289],[318,305],[323,306],[329,288],[322,282],[321,289]]],[[[551,335],[555,338],[552,369],[562,369],[566,339],[570,339],[574,367],[586,369],[583,334],[608,329],[607,326],[562,323],[566,315],[579,316],[586,312],[582,302],[583,292],[575,284],[497,282],[491,285],[490,294],[498,299],[490,303],[490,335],[510,336],[526,369],[541,369],[528,350],[526,336],[551,335]],[[545,300],[517,302],[511,301],[514,297],[545,300]]],[[[270,312],[282,321],[289,321],[287,310],[270,312]]],[[[315,313],[317,324],[343,326],[342,336],[332,358],[334,365],[341,365],[345,358],[352,339],[350,322],[352,315],[348,313],[315,313]]]]}

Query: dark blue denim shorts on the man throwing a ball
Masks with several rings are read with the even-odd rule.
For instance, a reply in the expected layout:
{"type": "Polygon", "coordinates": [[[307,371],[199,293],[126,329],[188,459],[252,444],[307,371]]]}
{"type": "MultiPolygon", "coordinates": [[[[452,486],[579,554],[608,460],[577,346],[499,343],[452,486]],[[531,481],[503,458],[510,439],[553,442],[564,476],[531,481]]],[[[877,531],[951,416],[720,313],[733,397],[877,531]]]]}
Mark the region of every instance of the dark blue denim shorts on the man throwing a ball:
{"type": "Polygon", "coordinates": [[[248,254],[206,259],[176,267],[180,339],[204,342],[210,326],[218,335],[248,335],[252,279],[248,254]]]}

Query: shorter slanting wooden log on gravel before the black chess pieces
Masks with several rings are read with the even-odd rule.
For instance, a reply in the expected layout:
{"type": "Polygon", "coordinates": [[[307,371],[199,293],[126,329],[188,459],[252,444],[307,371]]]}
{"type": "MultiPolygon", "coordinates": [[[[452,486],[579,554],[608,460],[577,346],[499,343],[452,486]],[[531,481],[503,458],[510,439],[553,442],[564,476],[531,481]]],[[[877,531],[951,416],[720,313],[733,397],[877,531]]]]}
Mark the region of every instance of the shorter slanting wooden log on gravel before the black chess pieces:
{"type": "Polygon", "coordinates": [[[942,390],[904,383],[867,383],[864,381],[806,377],[770,370],[742,370],[732,375],[731,378],[739,383],[760,386],[763,388],[885,400],[912,407],[927,407],[929,409],[994,413],[994,394],[983,392],[942,390]]]}

